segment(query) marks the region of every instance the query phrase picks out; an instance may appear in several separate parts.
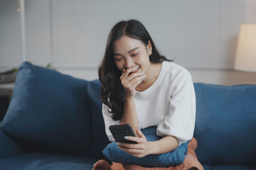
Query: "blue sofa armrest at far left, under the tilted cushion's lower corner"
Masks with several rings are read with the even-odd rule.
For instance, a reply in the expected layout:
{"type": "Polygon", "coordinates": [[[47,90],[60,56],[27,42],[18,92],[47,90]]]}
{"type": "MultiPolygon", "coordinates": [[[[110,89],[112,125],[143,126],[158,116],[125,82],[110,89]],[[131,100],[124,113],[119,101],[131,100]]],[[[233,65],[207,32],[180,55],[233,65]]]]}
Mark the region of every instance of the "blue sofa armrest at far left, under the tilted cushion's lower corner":
{"type": "MultiPolygon", "coordinates": [[[[1,126],[1,123],[0,123],[1,126]]],[[[0,159],[22,154],[23,150],[0,128],[0,159]]]]}

